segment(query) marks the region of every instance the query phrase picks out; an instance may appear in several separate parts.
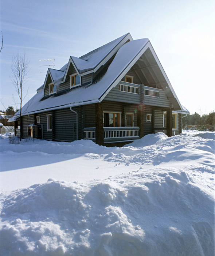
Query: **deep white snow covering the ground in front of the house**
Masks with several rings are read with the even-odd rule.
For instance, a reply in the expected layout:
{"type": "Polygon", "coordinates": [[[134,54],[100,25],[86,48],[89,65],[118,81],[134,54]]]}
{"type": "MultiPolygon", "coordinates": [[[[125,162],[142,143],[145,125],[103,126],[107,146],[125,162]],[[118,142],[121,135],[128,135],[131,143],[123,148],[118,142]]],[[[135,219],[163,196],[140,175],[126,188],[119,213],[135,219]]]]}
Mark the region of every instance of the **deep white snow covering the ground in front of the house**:
{"type": "Polygon", "coordinates": [[[214,255],[214,132],[0,152],[0,255],[214,255]]]}

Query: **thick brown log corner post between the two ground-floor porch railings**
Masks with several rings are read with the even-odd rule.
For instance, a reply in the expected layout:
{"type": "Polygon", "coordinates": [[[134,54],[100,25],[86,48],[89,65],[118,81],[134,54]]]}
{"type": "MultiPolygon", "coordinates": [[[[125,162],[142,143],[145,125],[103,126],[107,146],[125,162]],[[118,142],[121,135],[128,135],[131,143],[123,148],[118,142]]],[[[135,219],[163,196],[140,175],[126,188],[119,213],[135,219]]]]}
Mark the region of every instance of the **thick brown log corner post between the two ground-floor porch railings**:
{"type": "Polygon", "coordinates": [[[95,143],[103,145],[103,103],[95,103],[95,143]]]}

